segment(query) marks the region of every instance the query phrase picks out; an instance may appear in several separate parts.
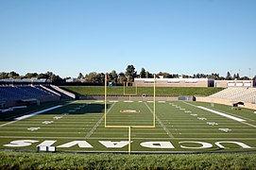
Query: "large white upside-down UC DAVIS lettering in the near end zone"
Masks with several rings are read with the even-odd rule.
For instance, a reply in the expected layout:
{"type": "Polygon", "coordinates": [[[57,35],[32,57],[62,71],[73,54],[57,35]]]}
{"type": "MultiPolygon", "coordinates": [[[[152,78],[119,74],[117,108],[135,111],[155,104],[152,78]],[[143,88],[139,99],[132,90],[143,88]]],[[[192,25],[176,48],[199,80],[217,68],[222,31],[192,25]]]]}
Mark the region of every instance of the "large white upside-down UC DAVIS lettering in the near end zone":
{"type": "MultiPolygon", "coordinates": [[[[45,140],[41,144],[37,144],[37,147],[42,146],[54,146],[57,140],[45,140]]],[[[11,141],[9,144],[4,144],[5,147],[26,147],[32,144],[40,143],[37,140],[17,140],[11,141]]],[[[102,144],[106,148],[123,148],[128,144],[132,143],[132,141],[98,141],[99,144],[102,144]]],[[[239,148],[244,149],[251,149],[251,147],[247,144],[235,141],[217,141],[213,144],[207,142],[200,142],[200,141],[179,141],[179,147],[183,149],[207,149],[207,148],[230,148],[229,146],[225,146],[226,144],[235,144],[239,148]],[[196,144],[196,145],[195,145],[196,144]]],[[[153,149],[175,149],[176,147],[170,141],[149,141],[149,142],[142,142],[140,144],[142,147],[145,148],[153,148],[153,149]]],[[[87,141],[71,141],[65,144],[55,145],[54,147],[58,148],[70,148],[73,146],[78,146],[79,148],[94,148],[92,144],[89,144],[87,141]]],[[[236,146],[236,147],[237,147],[236,146]]],[[[45,150],[45,149],[44,149],[45,150]]]]}

